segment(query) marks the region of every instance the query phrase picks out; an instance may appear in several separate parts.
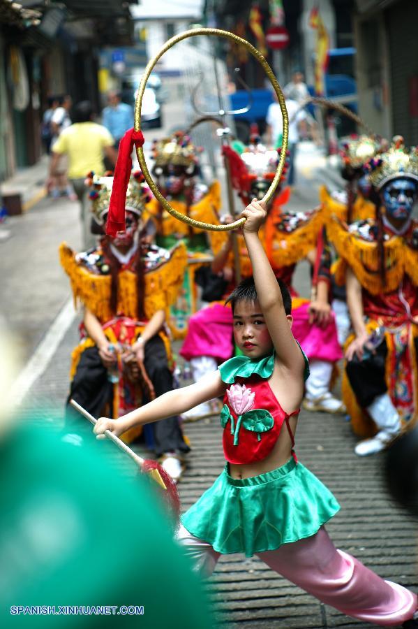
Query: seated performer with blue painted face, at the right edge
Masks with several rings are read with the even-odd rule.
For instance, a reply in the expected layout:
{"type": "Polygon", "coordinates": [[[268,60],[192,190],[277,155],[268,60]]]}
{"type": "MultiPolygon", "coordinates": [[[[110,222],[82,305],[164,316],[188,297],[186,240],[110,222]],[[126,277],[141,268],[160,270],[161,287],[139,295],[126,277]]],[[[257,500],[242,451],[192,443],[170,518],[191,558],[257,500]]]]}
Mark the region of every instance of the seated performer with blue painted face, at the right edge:
{"type": "Polygon", "coordinates": [[[418,152],[396,136],[369,164],[376,217],[350,226],[334,220],[329,238],[346,282],[354,335],[346,343],[343,399],[359,442],[374,454],[417,421],[418,152]]]}

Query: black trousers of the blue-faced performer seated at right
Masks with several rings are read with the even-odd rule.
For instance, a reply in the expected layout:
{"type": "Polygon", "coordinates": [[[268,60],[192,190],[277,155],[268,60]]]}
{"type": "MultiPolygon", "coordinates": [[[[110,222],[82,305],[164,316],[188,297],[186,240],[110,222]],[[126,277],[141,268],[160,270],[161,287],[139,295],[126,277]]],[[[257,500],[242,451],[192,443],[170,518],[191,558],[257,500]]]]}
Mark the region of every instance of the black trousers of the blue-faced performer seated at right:
{"type": "MultiPolygon", "coordinates": [[[[418,352],[418,338],[415,339],[415,348],[418,352]]],[[[376,396],[387,392],[385,381],[385,363],[387,356],[386,341],[379,345],[375,354],[366,356],[359,361],[356,356],[348,362],[345,370],[352,390],[361,407],[371,405],[376,396]]]]}

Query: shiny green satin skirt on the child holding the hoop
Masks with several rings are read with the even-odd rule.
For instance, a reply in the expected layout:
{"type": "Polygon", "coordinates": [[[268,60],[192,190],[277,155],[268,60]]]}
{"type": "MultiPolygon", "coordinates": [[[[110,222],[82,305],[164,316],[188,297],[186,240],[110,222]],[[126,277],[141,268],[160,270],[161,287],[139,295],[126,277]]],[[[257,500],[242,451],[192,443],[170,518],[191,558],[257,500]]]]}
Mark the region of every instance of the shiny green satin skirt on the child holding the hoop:
{"type": "Polygon", "coordinates": [[[338,509],[329,489],[291,458],[281,468],[245,479],[232,478],[225,465],[181,523],[218,553],[251,557],[315,535],[338,509]]]}

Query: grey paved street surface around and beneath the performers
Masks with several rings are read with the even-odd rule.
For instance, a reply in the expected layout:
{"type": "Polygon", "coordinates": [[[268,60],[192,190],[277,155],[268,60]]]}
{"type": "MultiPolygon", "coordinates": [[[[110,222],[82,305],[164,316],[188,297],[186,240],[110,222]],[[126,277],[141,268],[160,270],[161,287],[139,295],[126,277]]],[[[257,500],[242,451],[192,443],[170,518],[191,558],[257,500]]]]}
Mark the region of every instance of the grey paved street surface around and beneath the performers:
{"type": "MultiPolygon", "coordinates": [[[[150,137],[154,134],[150,132],[150,137]]],[[[290,209],[307,210],[318,199],[324,157],[312,146],[301,146],[299,183],[290,209]]],[[[331,182],[330,182],[331,183],[331,182]]],[[[77,203],[45,198],[21,217],[8,219],[10,238],[0,242],[2,312],[17,339],[22,370],[22,411],[29,421],[62,417],[68,390],[70,352],[77,343],[77,324],[69,303],[68,278],[59,267],[61,240],[80,247],[77,203]],[[57,317],[61,317],[57,319],[57,317]],[[57,334],[57,321],[64,334],[57,334]],[[55,328],[51,328],[55,323],[55,328]],[[51,333],[51,329],[53,333],[51,333]],[[43,345],[42,345],[43,344],[43,345]],[[43,352],[40,352],[40,348],[43,352]],[[40,354],[46,356],[42,361],[40,354]],[[50,411],[40,411],[40,408],[50,411]]],[[[297,287],[306,294],[307,267],[299,266],[297,287]]],[[[178,351],[178,344],[175,344],[178,351]]],[[[54,419],[54,421],[57,421],[54,419]]],[[[58,427],[58,426],[57,426],[58,427]]],[[[192,452],[181,482],[186,509],[223,467],[218,418],[185,426],[192,452]]],[[[329,523],[336,545],[357,556],[382,577],[418,588],[417,525],[389,500],[382,485],[383,456],[359,459],[355,438],[343,417],[302,411],[297,433],[299,459],[329,486],[341,512],[329,523]]],[[[130,462],[115,452],[112,464],[133,473],[130,462]]],[[[366,629],[320,605],[288,581],[277,577],[255,558],[221,558],[207,586],[218,616],[228,627],[366,629]]]]}

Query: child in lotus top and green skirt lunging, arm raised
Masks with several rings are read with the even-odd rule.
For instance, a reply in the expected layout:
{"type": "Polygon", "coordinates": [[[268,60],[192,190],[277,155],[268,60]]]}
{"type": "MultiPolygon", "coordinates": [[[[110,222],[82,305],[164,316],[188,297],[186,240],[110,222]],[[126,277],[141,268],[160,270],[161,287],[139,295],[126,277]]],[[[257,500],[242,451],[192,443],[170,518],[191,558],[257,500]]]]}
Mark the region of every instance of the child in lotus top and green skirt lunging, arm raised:
{"type": "Polygon", "coordinates": [[[307,364],[292,335],[290,296],[278,284],[258,236],[264,207],[254,199],[243,212],[254,278],[244,280],[230,297],[235,342],[244,356],[116,421],[100,418],[94,432],[103,439],[107,429],[118,435],[223,395],[227,464],[184,514],[179,530],[179,541],[197,569],[210,573],[220,554],[257,554],[272,570],[344,614],[380,626],[406,622],[408,629],[418,628],[418,620],[412,620],[415,594],[383,581],[334,547],[323,525],[338,503],[294,453],[307,364]]]}

